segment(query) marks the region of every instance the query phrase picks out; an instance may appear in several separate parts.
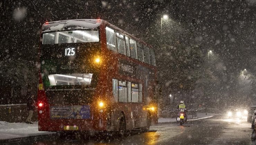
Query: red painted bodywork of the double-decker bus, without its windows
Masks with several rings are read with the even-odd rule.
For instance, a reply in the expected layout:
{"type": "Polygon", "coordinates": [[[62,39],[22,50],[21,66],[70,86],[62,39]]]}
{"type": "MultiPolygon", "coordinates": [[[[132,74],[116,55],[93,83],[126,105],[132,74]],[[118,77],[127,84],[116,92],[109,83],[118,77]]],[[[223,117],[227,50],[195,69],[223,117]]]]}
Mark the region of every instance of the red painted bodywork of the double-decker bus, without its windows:
{"type": "MultiPolygon", "coordinates": [[[[81,20],[82,21],[82,20],[81,20]]],[[[150,45],[141,41],[129,33],[111,25],[104,20],[84,20],[93,21],[94,23],[99,23],[99,36],[100,41],[98,43],[100,51],[97,55],[101,58],[101,63],[97,68],[99,69],[98,83],[93,90],[92,102],[90,105],[90,118],[89,119],[51,119],[50,106],[55,104],[50,104],[47,96],[47,90],[42,80],[42,72],[39,72],[39,88],[38,88],[38,105],[41,103],[42,106],[38,106],[38,130],[39,131],[65,131],[64,126],[78,126],[75,128],[78,131],[118,131],[119,129],[119,117],[124,114],[126,122],[126,130],[131,130],[134,128],[141,128],[147,125],[146,117],[149,113],[152,119],[152,124],[157,124],[157,101],[155,97],[155,86],[156,86],[156,67],[145,62],[141,62],[137,59],[127,57],[126,55],[114,52],[107,48],[106,42],[106,27],[115,29],[116,31],[122,33],[122,35],[129,36],[140,42],[149,48],[150,45]],[[142,67],[142,70],[148,70],[148,72],[140,71],[139,76],[150,75],[147,78],[147,87],[145,87],[145,80],[139,77],[126,76],[120,74],[120,63],[127,62],[136,67],[142,67]],[[112,92],[112,79],[118,80],[129,80],[131,82],[138,82],[142,84],[142,103],[132,103],[132,102],[116,102],[113,99],[112,92]],[[147,94],[145,91],[147,90],[147,94]],[[104,105],[99,106],[102,102],[104,105]]],[[[48,22],[58,23],[57,22],[48,22]]],[[[44,24],[43,27],[48,24],[44,24]]],[[[40,43],[42,46],[42,42],[40,43]]],[[[60,46],[60,45],[59,45],[60,46]]],[[[39,47],[40,48],[40,47],[39,47]]],[[[41,63],[41,62],[40,62],[41,63]]],[[[72,93],[71,93],[72,94],[72,93]]],[[[41,105],[40,104],[40,105],[41,105]]],[[[61,104],[59,104],[61,105],[61,104]]],[[[88,104],[70,104],[70,105],[88,105],[88,104]]]]}

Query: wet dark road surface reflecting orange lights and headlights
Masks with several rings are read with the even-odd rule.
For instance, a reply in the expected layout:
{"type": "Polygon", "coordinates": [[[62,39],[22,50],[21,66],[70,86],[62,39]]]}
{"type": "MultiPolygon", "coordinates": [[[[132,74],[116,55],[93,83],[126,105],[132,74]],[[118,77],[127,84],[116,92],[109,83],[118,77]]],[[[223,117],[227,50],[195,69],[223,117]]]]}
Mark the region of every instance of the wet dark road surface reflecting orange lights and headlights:
{"type": "Polygon", "coordinates": [[[215,116],[189,121],[183,126],[175,123],[151,126],[150,132],[133,131],[124,137],[96,135],[86,139],[60,139],[57,136],[20,140],[8,144],[26,145],[76,145],[76,144],[124,144],[124,145],[167,145],[167,144],[251,144],[252,129],[246,119],[225,119],[215,116]]]}

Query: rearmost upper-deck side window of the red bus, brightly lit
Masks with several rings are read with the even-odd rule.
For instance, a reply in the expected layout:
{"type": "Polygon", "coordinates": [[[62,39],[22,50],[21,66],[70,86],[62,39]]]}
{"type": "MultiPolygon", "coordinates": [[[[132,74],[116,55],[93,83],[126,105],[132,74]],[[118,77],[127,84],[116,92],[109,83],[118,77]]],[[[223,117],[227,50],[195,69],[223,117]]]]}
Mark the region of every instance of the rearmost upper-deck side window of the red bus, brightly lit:
{"type": "Polygon", "coordinates": [[[116,33],[113,29],[106,27],[107,48],[117,51],[116,48],[116,33]]]}

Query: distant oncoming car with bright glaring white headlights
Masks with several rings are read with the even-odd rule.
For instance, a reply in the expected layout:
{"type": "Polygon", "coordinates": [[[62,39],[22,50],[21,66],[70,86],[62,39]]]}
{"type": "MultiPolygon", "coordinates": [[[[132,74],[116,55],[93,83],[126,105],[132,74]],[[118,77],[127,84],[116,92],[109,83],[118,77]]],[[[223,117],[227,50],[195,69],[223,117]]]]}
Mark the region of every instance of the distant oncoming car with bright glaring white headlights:
{"type": "Polygon", "coordinates": [[[228,118],[241,118],[243,116],[246,116],[248,114],[248,111],[245,107],[238,107],[238,108],[230,108],[227,112],[228,118]]]}

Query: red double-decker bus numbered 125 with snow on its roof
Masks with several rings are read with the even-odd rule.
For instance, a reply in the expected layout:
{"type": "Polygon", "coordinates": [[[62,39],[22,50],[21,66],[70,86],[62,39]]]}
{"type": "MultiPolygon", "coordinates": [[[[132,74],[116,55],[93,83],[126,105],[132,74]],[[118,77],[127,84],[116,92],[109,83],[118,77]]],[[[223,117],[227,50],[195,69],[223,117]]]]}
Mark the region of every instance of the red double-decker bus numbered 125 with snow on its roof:
{"type": "Polygon", "coordinates": [[[149,129],[156,124],[152,46],[100,19],[45,22],[40,34],[38,129],[149,129]]]}

